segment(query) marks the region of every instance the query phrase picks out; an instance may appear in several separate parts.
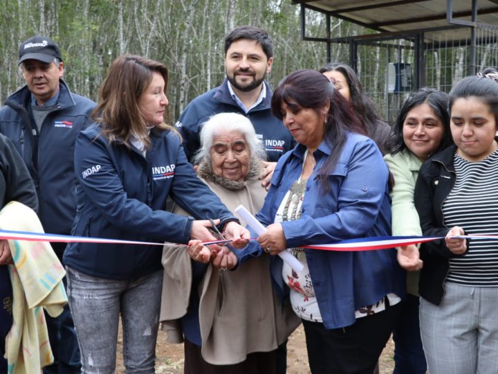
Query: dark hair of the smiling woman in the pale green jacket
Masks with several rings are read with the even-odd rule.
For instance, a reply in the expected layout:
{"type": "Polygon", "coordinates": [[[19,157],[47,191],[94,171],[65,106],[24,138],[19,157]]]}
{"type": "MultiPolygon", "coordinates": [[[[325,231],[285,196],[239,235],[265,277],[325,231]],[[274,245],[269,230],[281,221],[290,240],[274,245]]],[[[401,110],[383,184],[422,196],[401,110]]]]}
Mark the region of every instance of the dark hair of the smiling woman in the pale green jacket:
{"type": "Polygon", "coordinates": [[[396,154],[407,149],[407,145],[403,140],[403,125],[405,124],[405,119],[414,107],[427,103],[434,112],[434,115],[439,118],[439,121],[443,123],[444,132],[441,138],[441,143],[437,150],[432,152],[433,154],[444,150],[453,143],[451,132],[450,132],[450,115],[448,114],[448,95],[444,92],[438,91],[432,88],[422,88],[418,91],[413,92],[409,98],[405,100],[403,106],[396,117],[396,120],[391,125],[392,135],[390,139],[389,149],[391,154],[396,154]]]}

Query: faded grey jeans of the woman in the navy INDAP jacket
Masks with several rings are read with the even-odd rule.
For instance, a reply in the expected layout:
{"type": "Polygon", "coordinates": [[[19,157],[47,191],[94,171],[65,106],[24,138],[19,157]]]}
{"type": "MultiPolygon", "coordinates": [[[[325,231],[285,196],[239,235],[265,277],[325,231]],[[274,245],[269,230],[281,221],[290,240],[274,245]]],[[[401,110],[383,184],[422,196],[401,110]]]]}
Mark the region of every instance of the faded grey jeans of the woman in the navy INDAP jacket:
{"type": "Polygon", "coordinates": [[[82,373],[114,372],[120,316],[127,373],[154,373],[163,270],[127,281],[66,271],[82,373]]]}

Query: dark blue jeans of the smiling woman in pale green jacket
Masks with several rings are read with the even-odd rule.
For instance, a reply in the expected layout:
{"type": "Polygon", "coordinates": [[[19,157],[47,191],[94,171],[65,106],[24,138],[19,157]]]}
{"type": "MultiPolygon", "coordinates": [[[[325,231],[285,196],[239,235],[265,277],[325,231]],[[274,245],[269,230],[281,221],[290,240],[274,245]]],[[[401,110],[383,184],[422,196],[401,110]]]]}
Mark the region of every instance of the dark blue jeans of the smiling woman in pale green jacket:
{"type": "Polygon", "coordinates": [[[401,301],[401,316],[394,328],[393,374],[425,374],[427,363],[418,320],[418,296],[407,294],[401,301]]]}

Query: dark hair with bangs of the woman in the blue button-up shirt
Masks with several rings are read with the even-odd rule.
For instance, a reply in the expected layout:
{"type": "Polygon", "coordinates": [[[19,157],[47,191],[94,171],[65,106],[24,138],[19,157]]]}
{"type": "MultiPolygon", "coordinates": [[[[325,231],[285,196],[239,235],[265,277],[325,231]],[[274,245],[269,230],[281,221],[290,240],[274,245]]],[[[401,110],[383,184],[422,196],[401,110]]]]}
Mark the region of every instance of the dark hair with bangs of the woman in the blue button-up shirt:
{"type": "Polygon", "coordinates": [[[325,75],[315,70],[294,71],[279,82],[273,93],[271,110],[273,115],[280,120],[283,118],[283,103],[295,108],[296,111],[300,108],[308,108],[317,113],[320,113],[320,109],[330,103],[325,119],[324,141],[331,148],[332,154],[318,170],[322,189],[326,193],[330,188],[326,175],[329,175],[335,168],[344,143],[346,143],[348,132],[365,134],[361,121],[354,114],[351,105],[325,75]]]}

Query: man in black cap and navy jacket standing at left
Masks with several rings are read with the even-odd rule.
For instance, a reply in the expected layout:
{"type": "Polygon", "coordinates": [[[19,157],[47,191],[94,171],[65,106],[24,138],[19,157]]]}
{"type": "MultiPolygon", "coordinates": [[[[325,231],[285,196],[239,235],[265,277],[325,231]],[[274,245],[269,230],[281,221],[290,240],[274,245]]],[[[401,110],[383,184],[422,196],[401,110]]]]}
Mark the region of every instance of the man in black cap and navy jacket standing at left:
{"type": "MultiPolygon", "coordinates": [[[[39,199],[39,218],[47,233],[68,235],[76,213],[73,150],[89,123],[93,101],[72,94],[64,63],[52,39],[36,35],[19,48],[26,85],[0,110],[0,132],[10,138],[26,163],[39,199]]],[[[66,244],[52,243],[62,261],[66,244]]],[[[80,352],[68,306],[52,319],[46,314],[55,362],[44,373],[80,373],[80,352]]]]}

